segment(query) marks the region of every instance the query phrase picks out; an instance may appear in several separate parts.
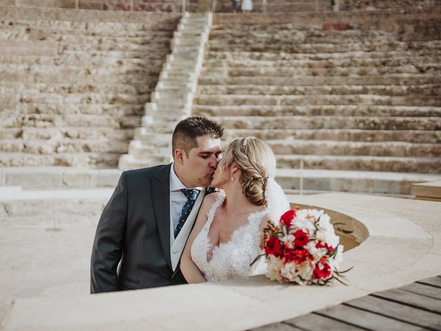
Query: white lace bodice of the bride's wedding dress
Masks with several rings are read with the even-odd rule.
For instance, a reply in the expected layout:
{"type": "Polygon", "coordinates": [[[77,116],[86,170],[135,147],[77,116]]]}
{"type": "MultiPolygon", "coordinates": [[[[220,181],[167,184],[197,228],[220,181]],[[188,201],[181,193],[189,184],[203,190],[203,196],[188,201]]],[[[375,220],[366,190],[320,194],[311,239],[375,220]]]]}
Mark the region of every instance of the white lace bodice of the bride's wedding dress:
{"type": "Polygon", "coordinates": [[[260,254],[259,223],[267,210],[259,210],[248,215],[248,223],[240,226],[232,233],[226,243],[220,243],[212,249],[211,259],[208,252],[212,248],[208,232],[214,214],[225,195],[218,194],[212,208],[207,214],[207,223],[198,233],[192,244],[192,259],[203,272],[207,281],[223,281],[227,279],[245,279],[261,272],[262,260],[250,264],[260,254]]]}

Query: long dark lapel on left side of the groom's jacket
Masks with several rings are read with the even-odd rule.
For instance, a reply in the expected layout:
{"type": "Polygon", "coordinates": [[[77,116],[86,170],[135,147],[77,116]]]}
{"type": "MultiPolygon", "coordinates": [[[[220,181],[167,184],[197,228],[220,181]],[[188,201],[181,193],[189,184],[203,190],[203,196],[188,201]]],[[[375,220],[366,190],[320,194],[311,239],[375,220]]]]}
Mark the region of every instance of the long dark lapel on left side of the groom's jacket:
{"type": "Polygon", "coordinates": [[[172,260],[170,259],[170,167],[171,164],[164,165],[152,179],[152,199],[165,260],[172,268],[172,260]]]}

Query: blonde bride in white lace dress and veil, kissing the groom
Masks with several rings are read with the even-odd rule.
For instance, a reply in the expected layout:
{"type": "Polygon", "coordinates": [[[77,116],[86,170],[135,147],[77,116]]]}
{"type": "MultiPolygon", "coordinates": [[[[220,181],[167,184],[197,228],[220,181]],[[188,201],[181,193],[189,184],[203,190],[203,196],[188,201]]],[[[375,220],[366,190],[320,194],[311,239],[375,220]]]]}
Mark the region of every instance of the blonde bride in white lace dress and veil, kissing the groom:
{"type": "Polygon", "coordinates": [[[245,279],[263,273],[262,230],[278,223],[289,203],[274,181],[276,159],[271,148],[254,137],[233,139],[218,164],[181,257],[188,283],[245,279]]]}

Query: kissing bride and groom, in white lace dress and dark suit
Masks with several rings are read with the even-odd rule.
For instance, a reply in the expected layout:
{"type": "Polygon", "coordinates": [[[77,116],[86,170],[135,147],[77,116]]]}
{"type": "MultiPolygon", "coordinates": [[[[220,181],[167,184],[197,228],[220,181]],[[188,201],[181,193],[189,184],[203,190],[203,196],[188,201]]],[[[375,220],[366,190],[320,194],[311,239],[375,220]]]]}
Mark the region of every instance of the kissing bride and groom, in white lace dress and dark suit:
{"type": "Polygon", "coordinates": [[[276,159],[254,137],[233,139],[204,117],[180,121],[173,162],[121,174],[101,214],[90,292],[246,279],[265,272],[263,228],[289,210],[276,159]]]}

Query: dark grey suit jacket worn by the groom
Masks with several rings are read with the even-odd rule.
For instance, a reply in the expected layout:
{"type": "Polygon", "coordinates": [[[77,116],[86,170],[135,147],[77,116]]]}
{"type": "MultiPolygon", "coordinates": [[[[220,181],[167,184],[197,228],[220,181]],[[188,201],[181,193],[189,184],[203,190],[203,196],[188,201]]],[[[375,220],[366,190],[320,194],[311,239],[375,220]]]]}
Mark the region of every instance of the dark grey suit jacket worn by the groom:
{"type": "Polygon", "coordinates": [[[187,283],[170,258],[170,168],[121,174],[96,228],[91,293],[187,283]]]}

